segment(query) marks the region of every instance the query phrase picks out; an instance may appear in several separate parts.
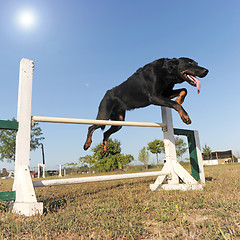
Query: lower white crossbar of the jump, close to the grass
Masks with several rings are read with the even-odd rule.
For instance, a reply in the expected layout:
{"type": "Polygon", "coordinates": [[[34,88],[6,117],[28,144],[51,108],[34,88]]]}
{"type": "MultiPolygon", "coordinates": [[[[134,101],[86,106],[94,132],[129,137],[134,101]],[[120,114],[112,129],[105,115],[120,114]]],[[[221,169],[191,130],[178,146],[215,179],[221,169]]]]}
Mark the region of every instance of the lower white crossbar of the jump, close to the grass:
{"type": "Polygon", "coordinates": [[[166,175],[170,175],[170,173],[157,171],[157,172],[128,173],[128,174],[105,175],[105,176],[94,176],[94,177],[81,177],[81,178],[63,178],[63,179],[33,181],[33,186],[48,187],[48,186],[59,186],[59,185],[78,184],[78,183],[124,180],[124,179],[130,179],[130,178],[155,177],[155,176],[161,176],[161,175],[166,176],[166,175]]]}

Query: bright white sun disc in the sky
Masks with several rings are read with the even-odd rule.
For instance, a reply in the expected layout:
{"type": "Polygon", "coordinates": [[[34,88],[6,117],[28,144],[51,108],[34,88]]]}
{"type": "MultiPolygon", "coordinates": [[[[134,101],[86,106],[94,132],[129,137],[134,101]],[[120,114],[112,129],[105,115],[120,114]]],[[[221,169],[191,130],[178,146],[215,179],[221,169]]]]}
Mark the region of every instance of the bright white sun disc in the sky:
{"type": "Polygon", "coordinates": [[[29,9],[22,10],[17,16],[17,22],[23,29],[32,29],[36,25],[36,14],[29,9]]]}

